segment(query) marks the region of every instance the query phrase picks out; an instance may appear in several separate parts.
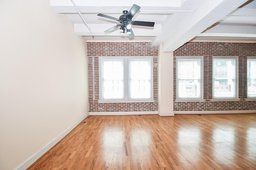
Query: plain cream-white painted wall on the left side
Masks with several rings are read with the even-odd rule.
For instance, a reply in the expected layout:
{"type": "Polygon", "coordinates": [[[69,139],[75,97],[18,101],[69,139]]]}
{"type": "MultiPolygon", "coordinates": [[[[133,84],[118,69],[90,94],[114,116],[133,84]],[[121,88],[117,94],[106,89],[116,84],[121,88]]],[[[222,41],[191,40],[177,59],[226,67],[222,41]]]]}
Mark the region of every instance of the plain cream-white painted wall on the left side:
{"type": "MultiPolygon", "coordinates": [[[[0,169],[88,114],[86,41],[49,0],[0,0],[0,169]]],[[[24,168],[24,166],[23,166],[24,168]]]]}

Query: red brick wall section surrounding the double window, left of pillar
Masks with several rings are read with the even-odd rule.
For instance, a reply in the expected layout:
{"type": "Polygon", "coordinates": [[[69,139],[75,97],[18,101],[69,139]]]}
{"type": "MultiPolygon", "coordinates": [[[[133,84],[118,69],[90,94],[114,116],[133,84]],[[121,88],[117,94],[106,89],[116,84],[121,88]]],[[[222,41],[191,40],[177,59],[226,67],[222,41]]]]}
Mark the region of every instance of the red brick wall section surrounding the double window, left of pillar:
{"type": "Polygon", "coordinates": [[[150,42],[88,42],[89,112],[102,111],[158,111],[158,47],[150,42]],[[154,102],[98,103],[99,60],[98,57],[153,56],[153,98],[154,102]],[[94,61],[94,82],[93,82],[94,61]],[[94,92],[93,92],[94,86],[94,92]]]}

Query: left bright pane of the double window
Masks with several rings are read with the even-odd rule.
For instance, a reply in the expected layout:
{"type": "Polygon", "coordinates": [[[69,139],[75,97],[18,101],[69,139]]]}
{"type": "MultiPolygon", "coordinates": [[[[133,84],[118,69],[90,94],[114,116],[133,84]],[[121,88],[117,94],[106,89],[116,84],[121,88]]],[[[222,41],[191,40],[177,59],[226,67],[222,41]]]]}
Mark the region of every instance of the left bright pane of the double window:
{"type": "Polygon", "coordinates": [[[124,99],[122,60],[102,60],[102,99],[124,99]]]}

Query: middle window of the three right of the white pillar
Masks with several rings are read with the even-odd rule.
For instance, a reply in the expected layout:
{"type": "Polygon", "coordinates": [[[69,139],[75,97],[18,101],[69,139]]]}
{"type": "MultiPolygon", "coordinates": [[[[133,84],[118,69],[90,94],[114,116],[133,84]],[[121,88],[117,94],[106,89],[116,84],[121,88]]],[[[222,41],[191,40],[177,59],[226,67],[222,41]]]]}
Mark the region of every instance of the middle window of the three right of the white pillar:
{"type": "Polygon", "coordinates": [[[236,59],[214,58],[212,64],[213,98],[237,98],[236,59]]]}

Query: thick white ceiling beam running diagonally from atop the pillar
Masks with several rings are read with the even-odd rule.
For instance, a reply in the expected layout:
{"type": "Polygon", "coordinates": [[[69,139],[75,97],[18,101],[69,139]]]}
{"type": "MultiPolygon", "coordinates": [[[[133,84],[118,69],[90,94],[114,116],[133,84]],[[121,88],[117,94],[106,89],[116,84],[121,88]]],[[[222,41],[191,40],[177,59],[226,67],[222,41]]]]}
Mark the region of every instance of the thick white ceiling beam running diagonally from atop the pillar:
{"type": "Polygon", "coordinates": [[[174,14],[162,33],[153,39],[152,45],[162,44],[163,52],[172,52],[196,35],[244,4],[247,0],[205,0],[196,10],[188,14],[174,14]],[[179,16],[179,15],[187,15],[179,16]],[[182,18],[182,20],[179,20],[182,18]],[[174,31],[170,31],[176,27],[174,31]]]}

